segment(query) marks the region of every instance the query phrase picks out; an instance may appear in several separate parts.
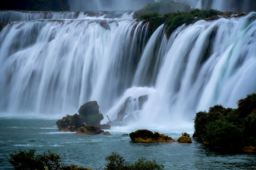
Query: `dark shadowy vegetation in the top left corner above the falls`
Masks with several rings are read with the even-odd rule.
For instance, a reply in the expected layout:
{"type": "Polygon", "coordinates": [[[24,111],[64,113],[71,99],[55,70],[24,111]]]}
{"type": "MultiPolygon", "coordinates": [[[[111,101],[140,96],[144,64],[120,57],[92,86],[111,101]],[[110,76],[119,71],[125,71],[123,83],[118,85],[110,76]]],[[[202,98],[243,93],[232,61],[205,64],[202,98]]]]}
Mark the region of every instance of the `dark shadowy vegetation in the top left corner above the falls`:
{"type": "Polygon", "coordinates": [[[68,0],[1,0],[0,10],[69,11],[68,0]]]}

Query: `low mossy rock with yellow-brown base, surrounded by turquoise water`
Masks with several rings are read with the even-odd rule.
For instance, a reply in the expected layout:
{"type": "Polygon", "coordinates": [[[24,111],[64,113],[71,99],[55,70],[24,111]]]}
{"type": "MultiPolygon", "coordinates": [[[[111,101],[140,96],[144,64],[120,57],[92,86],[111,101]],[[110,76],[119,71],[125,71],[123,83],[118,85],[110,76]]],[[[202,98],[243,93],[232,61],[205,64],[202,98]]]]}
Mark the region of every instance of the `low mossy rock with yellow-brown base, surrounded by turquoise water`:
{"type": "Polygon", "coordinates": [[[174,142],[175,140],[158,132],[151,132],[146,129],[140,129],[129,134],[134,142],[174,142]]]}

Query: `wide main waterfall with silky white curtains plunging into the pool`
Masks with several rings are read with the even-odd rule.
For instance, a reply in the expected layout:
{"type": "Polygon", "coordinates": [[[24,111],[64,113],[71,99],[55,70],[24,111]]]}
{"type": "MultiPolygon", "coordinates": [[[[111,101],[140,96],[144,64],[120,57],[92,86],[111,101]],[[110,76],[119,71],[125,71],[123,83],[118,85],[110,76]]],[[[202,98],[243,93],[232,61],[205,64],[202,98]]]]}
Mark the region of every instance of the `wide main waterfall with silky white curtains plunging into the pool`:
{"type": "Polygon", "coordinates": [[[255,33],[255,12],[183,25],[168,39],[163,25],[149,37],[133,19],[12,22],[0,32],[0,116],[62,117],[96,100],[114,120],[129,98],[126,123],[192,122],[256,91],[255,33]]]}

